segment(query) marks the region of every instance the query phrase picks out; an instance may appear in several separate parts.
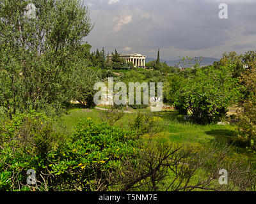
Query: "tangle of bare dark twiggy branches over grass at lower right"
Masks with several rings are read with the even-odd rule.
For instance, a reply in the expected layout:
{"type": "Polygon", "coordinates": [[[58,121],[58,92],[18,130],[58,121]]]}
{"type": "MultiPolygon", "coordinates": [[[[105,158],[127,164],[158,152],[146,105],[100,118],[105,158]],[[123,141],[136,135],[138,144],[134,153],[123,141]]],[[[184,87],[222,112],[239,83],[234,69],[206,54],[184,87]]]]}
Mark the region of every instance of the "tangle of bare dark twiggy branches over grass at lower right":
{"type": "Polygon", "coordinates": [[[126,160],[121,172],[111,173],[122,191],[250,191],[255,171],[243,162],[230,161],[228,148],[207,150],[175,147],[150,140],[135,161],[126,160]],[[228,185],[218,184],[219,170],[228,171],[228,185]]]}

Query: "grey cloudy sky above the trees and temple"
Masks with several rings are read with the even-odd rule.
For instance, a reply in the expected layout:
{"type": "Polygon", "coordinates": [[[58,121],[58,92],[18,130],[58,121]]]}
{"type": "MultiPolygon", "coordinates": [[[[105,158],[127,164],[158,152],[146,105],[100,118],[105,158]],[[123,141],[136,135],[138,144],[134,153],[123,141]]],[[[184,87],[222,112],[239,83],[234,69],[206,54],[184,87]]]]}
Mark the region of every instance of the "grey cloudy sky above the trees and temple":
{"type": "Polygon", "coordinates": [[[93,31],[84,40],[111,53],[172,60],[256,50],[256,0],[85,0],[93,31]],[[219,4],[228,18],[219,18],[219,4]]]}

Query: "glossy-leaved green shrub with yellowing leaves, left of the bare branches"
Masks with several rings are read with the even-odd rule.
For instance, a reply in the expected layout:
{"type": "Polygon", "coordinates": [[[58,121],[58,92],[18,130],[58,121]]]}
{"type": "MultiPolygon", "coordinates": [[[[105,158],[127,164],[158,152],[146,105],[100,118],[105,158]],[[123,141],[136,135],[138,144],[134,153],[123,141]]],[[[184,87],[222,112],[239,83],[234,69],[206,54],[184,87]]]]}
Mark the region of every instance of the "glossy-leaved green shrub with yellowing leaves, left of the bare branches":
{"type": "Polygon", "coordinates": [[[57,160],[53,161],[51,173],[61,190],[107,190],[111,187],[109,173],[122,168],[122,160],[134,156],[136,146],[131,131],[86,119],[79,122],[60,155],[53,156],[57,160]]]}

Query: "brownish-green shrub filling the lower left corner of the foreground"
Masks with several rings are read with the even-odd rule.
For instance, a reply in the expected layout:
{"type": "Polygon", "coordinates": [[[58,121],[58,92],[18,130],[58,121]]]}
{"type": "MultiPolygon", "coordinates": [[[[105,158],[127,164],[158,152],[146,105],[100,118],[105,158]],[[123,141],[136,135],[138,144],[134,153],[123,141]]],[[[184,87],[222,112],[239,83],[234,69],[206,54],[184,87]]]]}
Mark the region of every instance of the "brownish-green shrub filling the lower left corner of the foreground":
{"type": "MultiPolygon", "coordinates": [[[[60,134],[60,128],[56,129],[51,119],[35,111],[18,113],[1,124],[0,129],[0,171],[3,176],[0,189],[28,191],[26,171],[33,169],[38,175],[45,173],[49,154],[63,146],[65,133],[60,134]]],[[[39,186],[39,189],[47,190],[44,185],[39,186]]]]}

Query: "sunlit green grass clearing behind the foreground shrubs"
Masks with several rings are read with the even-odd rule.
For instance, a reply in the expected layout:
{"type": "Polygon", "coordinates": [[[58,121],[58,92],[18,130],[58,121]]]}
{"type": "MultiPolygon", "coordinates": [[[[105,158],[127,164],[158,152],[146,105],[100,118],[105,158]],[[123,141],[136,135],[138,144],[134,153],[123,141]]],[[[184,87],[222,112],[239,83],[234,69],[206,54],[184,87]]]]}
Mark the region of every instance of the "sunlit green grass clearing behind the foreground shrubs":
{"type": "MultiPolygon", "coordinates": [[[[72,133],[80,119],[91,118],[95,122],[101,122],[100,112],[102,112],[102,110],[75,108],[69,110],[68,115],[64,115],[61,118],[61,123],[67,128],[68,132],[72,133]]],[[[136,112],[138,111],[125,113],[124,117],[116,122],[114,126],[128,129],[129,122],[136,117],[136,112]]],[[[141,110],[141,112],[150,112],[150,110],[141,110]]],[[[233,139],[237,136],[236,126],[218,126],[216,124],[202,126],[192,124],[191,122],[184,121],[182,115],[177,115],[176,112],[170,110],[156,112],[153,113],[153,115],[161,129],[154,138],[160,142],[189,145],[191,147],[205,147],[214,142],[231,144],[233,139]]],[[[147,137],[147,135],[145,135],[145,137],[147,137]]],[[[256,163],[255,153],[250,152],[243,147],[236,147],[233,145],[232,157],[239,157],[256,163]]]]}

